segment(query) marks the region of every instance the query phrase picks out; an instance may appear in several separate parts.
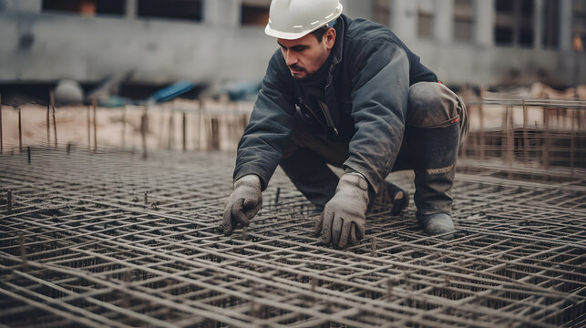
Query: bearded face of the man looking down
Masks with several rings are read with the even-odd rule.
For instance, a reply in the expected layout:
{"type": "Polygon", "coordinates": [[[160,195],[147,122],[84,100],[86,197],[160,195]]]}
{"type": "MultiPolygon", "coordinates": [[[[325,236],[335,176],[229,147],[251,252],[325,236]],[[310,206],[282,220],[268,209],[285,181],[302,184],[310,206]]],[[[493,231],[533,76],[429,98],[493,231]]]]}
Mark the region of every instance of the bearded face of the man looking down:
{"type": "Polygon", "coordinates": [[[278,39],[285,64],[293,78],[304,79],[317,72],[325,60],[330,56],[335,41],[335,30],[330,28],[325,32],[322,42],[317,37],[308,34],[295,40],[278,39]]]}

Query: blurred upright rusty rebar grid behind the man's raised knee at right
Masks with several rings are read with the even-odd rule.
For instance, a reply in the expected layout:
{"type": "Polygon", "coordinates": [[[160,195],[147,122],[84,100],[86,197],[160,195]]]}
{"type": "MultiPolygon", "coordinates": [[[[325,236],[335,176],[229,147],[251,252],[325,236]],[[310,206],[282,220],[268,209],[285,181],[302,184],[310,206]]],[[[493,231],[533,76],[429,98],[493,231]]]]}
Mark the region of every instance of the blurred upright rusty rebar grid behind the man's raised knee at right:
{"type": "Polygon", "coordinates": [[[470,98],[460,157],[502,159],[509,167],[586,168],[586,101],[470,98]]]}

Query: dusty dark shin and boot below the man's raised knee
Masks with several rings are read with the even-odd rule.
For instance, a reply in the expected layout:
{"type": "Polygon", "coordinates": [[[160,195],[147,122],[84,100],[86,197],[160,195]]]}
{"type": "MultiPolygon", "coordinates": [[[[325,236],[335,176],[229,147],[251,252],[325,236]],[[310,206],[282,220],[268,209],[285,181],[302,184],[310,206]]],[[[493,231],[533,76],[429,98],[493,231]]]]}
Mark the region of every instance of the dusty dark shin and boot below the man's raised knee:
{"type": "Polygon", "coordinates": [[[460,125],[406,130],[415,170],[416,219],[423,229],[445,240],[454,237],[450,191],[456,173],[460,125]]]}

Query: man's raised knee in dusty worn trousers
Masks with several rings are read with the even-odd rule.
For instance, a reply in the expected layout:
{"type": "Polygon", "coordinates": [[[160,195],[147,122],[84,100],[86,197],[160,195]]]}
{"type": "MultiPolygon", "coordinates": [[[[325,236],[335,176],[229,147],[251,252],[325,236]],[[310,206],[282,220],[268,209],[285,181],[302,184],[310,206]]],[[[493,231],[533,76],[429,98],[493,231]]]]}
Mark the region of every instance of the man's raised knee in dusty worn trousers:
{"type": "Polygon", "coordinates": [[[411,86],[407,106],[406,125],[414,128],[447,127],[462,114],[457,95],[435,82],[419,82],[411,86]]]}

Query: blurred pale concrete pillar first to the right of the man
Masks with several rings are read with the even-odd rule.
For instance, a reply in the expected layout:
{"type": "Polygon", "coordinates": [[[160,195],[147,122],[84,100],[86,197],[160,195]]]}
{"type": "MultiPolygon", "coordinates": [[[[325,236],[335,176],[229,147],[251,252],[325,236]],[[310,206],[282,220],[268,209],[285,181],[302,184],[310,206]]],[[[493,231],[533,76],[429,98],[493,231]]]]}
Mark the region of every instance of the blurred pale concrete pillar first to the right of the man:
{"type": "Polygon", "coordinates": [[[417,36],[417,7],[413,0],[391,2],[391,29],[404,41],[414,40],[417,36]]]}

